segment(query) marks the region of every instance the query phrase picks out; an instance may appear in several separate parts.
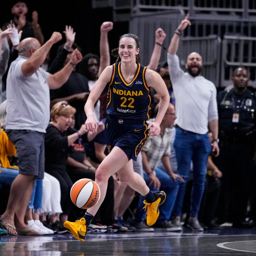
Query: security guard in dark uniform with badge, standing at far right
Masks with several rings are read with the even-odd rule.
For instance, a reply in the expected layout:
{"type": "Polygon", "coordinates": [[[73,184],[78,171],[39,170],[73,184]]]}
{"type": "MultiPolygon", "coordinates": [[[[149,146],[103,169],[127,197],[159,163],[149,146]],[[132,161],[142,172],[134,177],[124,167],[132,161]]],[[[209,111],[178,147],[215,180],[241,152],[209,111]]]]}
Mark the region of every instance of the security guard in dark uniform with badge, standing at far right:
{"type": "Polygon", "coordinates": [[[217,95],[220,154],[214,162],[223,173],[217,217],[218,224],[250,228],[245,214],[254,172],[256,97],[247,89],[250,76],[244,67],[237,67],[231,79],[233,89],[217,95]]]}

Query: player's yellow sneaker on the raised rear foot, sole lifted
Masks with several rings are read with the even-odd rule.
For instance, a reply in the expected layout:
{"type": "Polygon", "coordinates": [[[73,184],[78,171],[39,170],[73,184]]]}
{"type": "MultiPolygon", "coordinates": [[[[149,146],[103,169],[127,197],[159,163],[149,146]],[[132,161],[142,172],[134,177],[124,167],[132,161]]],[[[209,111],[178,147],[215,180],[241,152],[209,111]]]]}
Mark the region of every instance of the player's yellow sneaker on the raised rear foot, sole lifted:
{"type": "Polygon", "coordinates": [[[159,198],[157,198],[153,203],[148,203],[146,200],[143,201],[145,204],[143,209],[147,210],[146,215],[148,226],[155,224],[159,216],[158,207],[160,207],[160,205],[166,200],[166,193],[164,191],[157,192],[157,194],[159,195],[159,198]]]}

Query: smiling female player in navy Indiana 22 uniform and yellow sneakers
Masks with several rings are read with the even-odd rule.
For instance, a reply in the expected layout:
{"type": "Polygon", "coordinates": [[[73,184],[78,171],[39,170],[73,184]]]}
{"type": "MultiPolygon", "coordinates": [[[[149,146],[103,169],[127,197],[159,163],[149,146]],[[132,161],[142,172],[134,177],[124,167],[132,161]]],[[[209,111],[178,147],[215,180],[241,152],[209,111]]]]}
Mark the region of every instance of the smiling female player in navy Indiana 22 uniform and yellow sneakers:
{"type": "Polygon", "coordinates": [[[108,85],[108,118],[105,128],[109,139],[109,154],[96,171],[95,181],[101,191],[99,203],[88,209],[84,218],[76,222],[64,223],[64,227],[81,241],[84,241],[87,227],[105,198],[108,178],[116,172],[120,181],[127,183],[145,198],[148,225],[153,225],[157,221],[158,207],[166,199],[165,192],[152,192],[143,177],[133,170],[132,159],[137,159],[148,136],[157,136],[160,133],[160,123],[170,100],[161,76],[140,65],[139,51],[140,42],[136,35],[122,35],[119,39],[119,47],[112,51],[112,55],[121,61],[103,70],[84,106],[87,116],[85,129],[96,132],[94,105],[106,84],[108,85]],[[151,111],[150,87],[160,95],[160,105],[155,121],[148,125],[146,121],[151,111]]]}

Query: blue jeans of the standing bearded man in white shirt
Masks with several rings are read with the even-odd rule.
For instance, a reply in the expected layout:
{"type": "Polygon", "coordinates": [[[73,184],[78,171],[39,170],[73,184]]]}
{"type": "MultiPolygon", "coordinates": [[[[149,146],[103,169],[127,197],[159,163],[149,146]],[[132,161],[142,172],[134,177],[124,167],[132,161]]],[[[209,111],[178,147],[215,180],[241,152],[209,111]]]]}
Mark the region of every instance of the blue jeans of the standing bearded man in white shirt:
{"type": "Polygon", "coordinates": [[[207,160],[211,151],[208,132],[206,134],[196,134],[177,127],[174,148],[177,158],[177,174],[185,180],[185,183],[181,183],[179,186],[174,206],[174,215],[181,216],[182,214],[186,183],[189,179],[192,161],[194,184],[191,194],[190,216],[198,217],[198,211],[204,193],[207,160]]]}

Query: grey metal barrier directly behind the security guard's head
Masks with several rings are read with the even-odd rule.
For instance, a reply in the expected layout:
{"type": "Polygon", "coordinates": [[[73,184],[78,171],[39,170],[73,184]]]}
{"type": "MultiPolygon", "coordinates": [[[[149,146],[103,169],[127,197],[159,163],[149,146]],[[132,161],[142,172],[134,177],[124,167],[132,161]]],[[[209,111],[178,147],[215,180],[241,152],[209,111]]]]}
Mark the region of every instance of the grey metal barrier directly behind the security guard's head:
{"type": "Polygon", "coordinates": [[[256,38],[241,35],[224,35],[221,51],[221,87],[231,83],[233,69],[244,66],[250,70],[249,85],[256,88],[256,38]]]}

